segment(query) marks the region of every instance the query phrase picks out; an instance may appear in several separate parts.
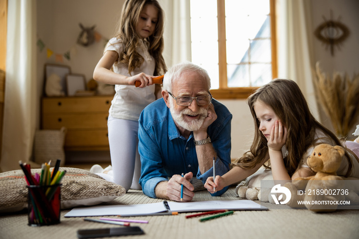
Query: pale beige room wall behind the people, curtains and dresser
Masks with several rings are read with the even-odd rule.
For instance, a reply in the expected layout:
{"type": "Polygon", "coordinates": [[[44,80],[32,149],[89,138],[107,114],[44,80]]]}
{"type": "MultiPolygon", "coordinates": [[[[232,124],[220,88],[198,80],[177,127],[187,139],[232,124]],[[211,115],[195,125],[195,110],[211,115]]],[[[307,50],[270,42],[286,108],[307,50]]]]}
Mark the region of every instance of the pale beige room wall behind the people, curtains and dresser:
{"type": "MultiPolygon", "coordinates": [[[[94,43],[87,48],[76,45],[77,36],[81,32],[78,23],[86,27],[96,25],[96,31],[110,38],[123,2],[124,0],[37,0],[38,37],[43,39],[47,47],[55,53],[65,53],[75,46],[76,55],[71,56],[70,61],[64,59],[62,64],[69,65],[72,73],[85,74],[86,80],[89,81],[95,65],[102,56],[104,42],[94,43]]],[[[333,70],[347,72],[350,75],[354,72],[359,73],[359,27],[357,26],[359,1],[313,0],[311,4],[313,29],[323,22],[323,16],[330,18],[330,9],[332,9],[334,19],[341,16],[341,22],[347,25],[351,32],[347,41],[341,46],[341,50],[335,49],[334,57],[314,38],[315,60],[321,61],[323,70],[328,73],[332,73],[333,70]]],[[[47,59],[46,50],[38,52],[37,55],[39,98],[43,92],[45,63],[55,63],[54,56],[47,59]]],[[[221,100],[221,102],[233,114],[231,157],[236,158],[249,149],[254,132],[252,116],[245,100],[221,100]]],[[[321,112],[321,121],[332,129],[330,121],[323,112],[321,112]]]]}

